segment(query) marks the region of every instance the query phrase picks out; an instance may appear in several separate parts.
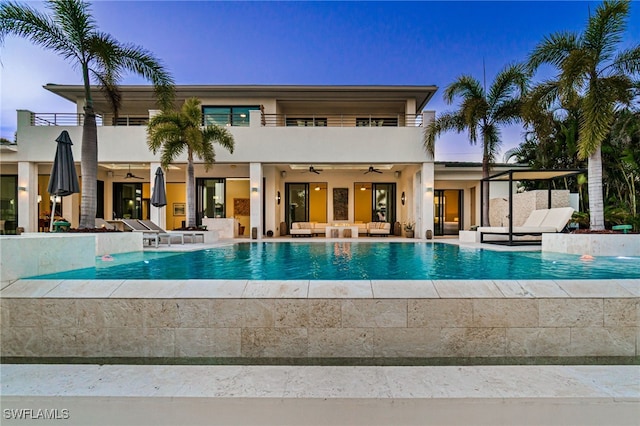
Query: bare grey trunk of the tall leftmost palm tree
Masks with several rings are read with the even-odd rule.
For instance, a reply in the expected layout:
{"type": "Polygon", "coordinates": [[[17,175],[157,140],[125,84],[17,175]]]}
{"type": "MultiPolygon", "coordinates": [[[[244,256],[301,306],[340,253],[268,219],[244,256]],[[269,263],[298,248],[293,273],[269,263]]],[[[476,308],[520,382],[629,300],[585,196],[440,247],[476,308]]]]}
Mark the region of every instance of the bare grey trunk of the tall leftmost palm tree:
{"type": "Polygon", "coordinates": [[[93,108],[85,107],[82,126],[80,173],[82,193],[80,228],[95,228],[98,179],[98,129],[93,108]]]}

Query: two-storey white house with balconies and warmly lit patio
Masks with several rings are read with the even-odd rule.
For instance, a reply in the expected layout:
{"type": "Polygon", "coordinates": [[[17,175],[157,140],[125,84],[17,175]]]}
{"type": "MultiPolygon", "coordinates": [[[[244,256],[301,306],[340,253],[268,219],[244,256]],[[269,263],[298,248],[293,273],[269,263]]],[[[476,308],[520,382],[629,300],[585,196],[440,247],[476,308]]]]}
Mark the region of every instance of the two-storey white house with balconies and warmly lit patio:
{"type": "MultiPolygon", "coordinates": [[[[80,175],[82,86],[45,89],[75,114],[18,111],[17,144],[3,145],[0,219],[11,232],[43,228],[51,214],[47,183],[62,130],[80,175]]],[[[168,205],[149,203],[159,155],[146,143],[157,113],[151,86],[123,86],[114,118],[95,91],[98,212],[107,220],[150,218],[166,229],[186,218],[186,154],[165,170],[168,205]]],[[[216,149],[208,171],[196,160],[198,224],[230,235],[284,235],[294,222],[414,222],[416,236],[457,234],[479,221],[479,164],[436,163],[423,148],[425,110],[435,86],[177,86],[176,106],[197,97],[205,123],[226,126],[233,154],[216,149]]],[[[77,226],[80,194],[64,197],[77,226]]],[[[54,212],[54,214],[56,214],[54,212]]],[[[393,226],[392,226],[393,232],[393,226]]]]}

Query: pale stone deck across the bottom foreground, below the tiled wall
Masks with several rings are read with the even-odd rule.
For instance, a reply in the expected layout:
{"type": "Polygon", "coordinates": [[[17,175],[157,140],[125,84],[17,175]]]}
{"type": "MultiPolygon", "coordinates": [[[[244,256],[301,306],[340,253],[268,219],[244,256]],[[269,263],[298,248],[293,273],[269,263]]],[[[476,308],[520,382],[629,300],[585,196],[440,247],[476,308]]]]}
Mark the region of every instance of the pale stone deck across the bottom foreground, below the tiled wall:
{"type": "Polygon", "coordinates": [[[9,364],[0,378],[7,426],[637,425],[640,410],[638,366],[9,364]],[[45,409],[59,419],[24,419],[45,409]]]}

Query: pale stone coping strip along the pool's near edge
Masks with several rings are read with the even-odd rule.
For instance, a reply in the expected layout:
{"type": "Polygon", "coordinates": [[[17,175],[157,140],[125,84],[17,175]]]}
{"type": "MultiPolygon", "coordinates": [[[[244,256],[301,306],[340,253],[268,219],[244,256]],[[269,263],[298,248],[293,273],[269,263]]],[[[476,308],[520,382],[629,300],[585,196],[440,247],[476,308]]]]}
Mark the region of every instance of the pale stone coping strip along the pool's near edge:
{"type": "Polygon", "coordinates": [[[541,299],[638,298],[625,280],[18,280],[0,298],[541,299]]]}

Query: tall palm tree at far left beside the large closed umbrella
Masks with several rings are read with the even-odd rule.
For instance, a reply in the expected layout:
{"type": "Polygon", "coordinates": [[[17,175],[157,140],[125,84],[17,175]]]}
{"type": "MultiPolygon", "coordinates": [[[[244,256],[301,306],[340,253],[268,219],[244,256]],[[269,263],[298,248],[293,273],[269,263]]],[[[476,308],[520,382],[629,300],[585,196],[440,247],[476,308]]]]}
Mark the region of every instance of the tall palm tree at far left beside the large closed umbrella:
{"type": "Polygon", "coordinates": [[[117,83],[126,72],[150,80],[161,108],[173,104],[173,79],[148,51],[120,44],[98,31],[88,3],[82,0],[50,0],[51,16],[28,5],[0,4],[0,43],[8,35],[29,39],[77,67],[84,84],[82,129],[82,202],[80,228],[95,227],[97,207],[98,133],[93,105],[92,81],[100,86],[117,116],[120,94],[117,83]]]}

